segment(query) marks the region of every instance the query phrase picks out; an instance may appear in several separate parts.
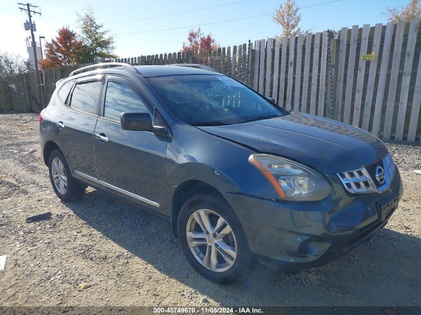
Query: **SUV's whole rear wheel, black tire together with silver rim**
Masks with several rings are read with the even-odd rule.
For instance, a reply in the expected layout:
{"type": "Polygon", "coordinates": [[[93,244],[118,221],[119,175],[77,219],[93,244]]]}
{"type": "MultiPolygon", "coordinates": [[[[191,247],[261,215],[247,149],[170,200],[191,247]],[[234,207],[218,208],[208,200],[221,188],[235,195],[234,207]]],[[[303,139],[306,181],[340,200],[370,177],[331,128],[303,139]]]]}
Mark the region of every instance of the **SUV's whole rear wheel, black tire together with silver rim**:
{"type": "Polygon", "coordinates": [[[85,194],[87,186],[72,176],[66,159],[59,150],[51,152],[48,158],[48,171],[54,193],[62,201],[77,200],[85,194]]]}

